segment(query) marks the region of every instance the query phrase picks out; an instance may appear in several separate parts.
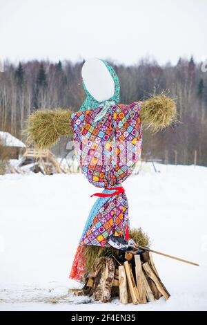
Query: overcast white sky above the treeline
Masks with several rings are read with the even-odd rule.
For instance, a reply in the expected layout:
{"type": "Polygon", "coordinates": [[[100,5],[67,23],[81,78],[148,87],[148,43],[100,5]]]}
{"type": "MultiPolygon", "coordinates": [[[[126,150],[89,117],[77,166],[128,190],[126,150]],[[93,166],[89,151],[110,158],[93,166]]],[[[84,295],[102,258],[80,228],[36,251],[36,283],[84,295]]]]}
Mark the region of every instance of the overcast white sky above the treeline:
{"type": "Polygon", "coordinates": [[[0,0],[0,58],[207,57],[207,0],[0,0]]]}

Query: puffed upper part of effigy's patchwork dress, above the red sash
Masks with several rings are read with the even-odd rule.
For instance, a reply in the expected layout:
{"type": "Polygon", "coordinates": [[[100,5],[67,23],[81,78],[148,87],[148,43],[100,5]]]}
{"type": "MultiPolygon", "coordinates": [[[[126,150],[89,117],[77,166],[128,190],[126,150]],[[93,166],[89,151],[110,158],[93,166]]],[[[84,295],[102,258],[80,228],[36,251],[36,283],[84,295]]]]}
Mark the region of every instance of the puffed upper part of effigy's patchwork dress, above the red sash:
{"type": "Polygon", "coordinates": [[[97,123],[100,108],[72,115],[77,158],[88,181],[97,187],[121,184],[141,154],[141,102],[110,107],[97,123]]]}

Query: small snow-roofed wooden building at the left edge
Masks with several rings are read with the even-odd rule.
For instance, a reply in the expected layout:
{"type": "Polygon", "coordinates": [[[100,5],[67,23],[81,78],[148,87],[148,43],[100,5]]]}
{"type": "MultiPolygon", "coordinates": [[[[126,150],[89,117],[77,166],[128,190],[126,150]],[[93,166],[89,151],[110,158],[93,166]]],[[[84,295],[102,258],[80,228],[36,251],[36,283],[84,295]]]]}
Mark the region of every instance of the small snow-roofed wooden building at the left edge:
{"type": "Polygon", "coordinates": [[[26,151],[26,145],[8,132],[0,131],[0,159],[19,159],[26,151]]]}

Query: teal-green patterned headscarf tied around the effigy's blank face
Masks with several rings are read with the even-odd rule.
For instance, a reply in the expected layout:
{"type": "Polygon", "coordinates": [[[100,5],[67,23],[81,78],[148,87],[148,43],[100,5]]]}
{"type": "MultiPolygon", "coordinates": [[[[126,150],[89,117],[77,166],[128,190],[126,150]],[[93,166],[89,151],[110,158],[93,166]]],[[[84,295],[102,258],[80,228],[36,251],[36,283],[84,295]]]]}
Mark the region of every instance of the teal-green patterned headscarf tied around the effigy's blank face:
{"type": "Polygon", "coordinates": [[[86,100],[84,100],[83,105],[80,108],[80,111],[86,111],[86,109],[96,109],[98,106],[102,106],[103,109],[101,111],[103,111],[103,113],[101,115],[103,116],[105,115],[108,106],[110,106],[110,102],[115,102],[115,104],[119,102],[120,86],[119,86],[119,78],[117,76],[117,73],[115,73],[114,69],[112,68],[112,66],[110,66],[106,61],[103,61],[103,59],[100,60],[106,65],[106,68],[108,68],[108,71],[115,82],[115,93],[114,95],[112,95],[112,97],[109,100],[103,100],[103,102],[98,102],[97,100],[95,100],[94,97],[92,97],[92,95],[90,95],[90,93],[86,89],[86,85],[82,81],[83,89],[87,97],[86,100]]]}

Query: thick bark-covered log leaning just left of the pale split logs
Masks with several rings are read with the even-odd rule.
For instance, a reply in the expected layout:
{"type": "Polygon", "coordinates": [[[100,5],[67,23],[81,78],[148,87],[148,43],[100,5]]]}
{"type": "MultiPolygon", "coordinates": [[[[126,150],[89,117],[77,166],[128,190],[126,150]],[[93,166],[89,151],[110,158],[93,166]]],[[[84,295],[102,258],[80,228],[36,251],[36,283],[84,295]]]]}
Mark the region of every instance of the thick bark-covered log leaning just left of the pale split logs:
{"type": "Polygon", "coordinates": [[[115,277],[115,260],[112,257],[106,257],[106,268],[104,274],[103,292],[101,301],[110,301],[110,293],[112,289],[112,283],[115,277]]]}

